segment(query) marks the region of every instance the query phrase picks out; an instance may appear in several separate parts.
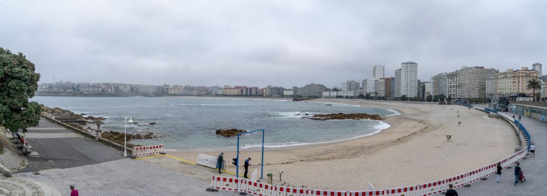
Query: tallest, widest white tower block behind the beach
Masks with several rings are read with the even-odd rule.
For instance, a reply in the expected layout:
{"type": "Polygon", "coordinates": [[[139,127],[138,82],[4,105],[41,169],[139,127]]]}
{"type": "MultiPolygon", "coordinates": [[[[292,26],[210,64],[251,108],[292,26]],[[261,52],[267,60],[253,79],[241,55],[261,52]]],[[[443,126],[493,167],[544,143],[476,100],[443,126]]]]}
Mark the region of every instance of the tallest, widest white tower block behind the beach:
{"type": "Polygon", "coordinates": [[[417,97],[418,89],[418,63],[401,63],[401,96],[417,97]]]}

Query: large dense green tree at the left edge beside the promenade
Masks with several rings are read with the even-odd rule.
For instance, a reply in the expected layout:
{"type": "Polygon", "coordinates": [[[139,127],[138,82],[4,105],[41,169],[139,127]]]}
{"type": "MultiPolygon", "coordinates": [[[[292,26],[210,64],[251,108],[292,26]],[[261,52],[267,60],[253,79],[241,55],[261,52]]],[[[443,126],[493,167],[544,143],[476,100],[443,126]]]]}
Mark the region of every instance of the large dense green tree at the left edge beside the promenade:
{"type": "Polygon", "coordinates": [[[28,102],[38,90],[40,74],[34,71],[34,63],[25,55],[0,47],[0,125],[11,132],[38,126],[42,108],[28,102]]]}

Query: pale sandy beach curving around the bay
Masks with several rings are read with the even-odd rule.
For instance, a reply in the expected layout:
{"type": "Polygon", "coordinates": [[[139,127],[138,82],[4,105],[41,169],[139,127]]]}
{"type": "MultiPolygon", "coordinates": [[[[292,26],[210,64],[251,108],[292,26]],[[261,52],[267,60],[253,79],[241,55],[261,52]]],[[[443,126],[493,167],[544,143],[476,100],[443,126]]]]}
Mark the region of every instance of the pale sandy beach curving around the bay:
{"type": "MultiPolygon", "coordinates": [[[[464,106],[358,100],[313,102],[394,109],[400,115],[387,116],[383,122],[391,127],[363,138],[266,148],[264,177],[267,173],[278,175],[283,171],[283,178],[289,182],[316,189],[363,190],[369,182],[376,189],[411,186],[496,162],[511,155],[518,145],[510,124],[464,106]],[[462,124],[458,125],[458,121],[462,124]],[[447,141],[445,135],[452,135],[452,139],[447,141]]],[[[231,171],[235,171],[231,165],[235,151],[224,152],[226,169],[231,171]]],[[[170,151],[168,154],[195,161],[198,152],[219,154],[203,151],[170,151]]],[[[241,160],[251,157],[252,164],[260,163],[260,151],[256,149],[242,150],[240,156],[241,160]]]]}

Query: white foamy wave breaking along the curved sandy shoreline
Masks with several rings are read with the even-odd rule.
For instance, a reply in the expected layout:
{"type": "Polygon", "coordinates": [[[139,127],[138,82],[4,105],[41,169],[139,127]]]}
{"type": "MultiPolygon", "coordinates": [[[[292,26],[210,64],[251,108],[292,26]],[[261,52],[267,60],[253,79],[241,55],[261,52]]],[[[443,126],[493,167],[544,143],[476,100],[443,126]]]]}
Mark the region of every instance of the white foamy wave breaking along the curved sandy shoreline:
{"type": "MultiPolygon", "coordinates": [[[[369,121],[375,121],[375,120],[369,120],[369,121]]],[[[370,136],[370,135],[374,135],[374,134],[377,134],[377,133],[380,133],[383,129],[387,129],[389,127],[391,127],[390,124],[388,123],[385,123],[385,122],[382,122],[382,121],[375,121],[375,122],[379,122],[380,124],[377,124],[376,126],[374,126],[374,131],[373,132],[370,132],[370,133],[367,133],[367,134],[363,134],[363,135],[359,135],[359,136],[354,136],[352,138],[347,138],[347,139],[340,139],[340,140],[333,140],[333,141],[319,141],[319,142],[297,142],[297,141],[289,141],[289,142],[280,142],[280,143],[265,143],[264,144],[264,147],[268,147],[268,148],[278,148],[278,147],[290,147],[290,146],[304,146],[304,145],[315,145],[315,144],[328,144],[328,143],[332,143],[332,142],[339,142],[339,141],[347,141],[347,140],[353,140],[353,139],[358,139],[358,138],[363,138],[365,136],[370,136]]],[[[245,144],[245,145],[242,145],[241,149],[249,149],[249,148],[254,148],[254,147],[261,147],[262,144],[245,144]]]]}

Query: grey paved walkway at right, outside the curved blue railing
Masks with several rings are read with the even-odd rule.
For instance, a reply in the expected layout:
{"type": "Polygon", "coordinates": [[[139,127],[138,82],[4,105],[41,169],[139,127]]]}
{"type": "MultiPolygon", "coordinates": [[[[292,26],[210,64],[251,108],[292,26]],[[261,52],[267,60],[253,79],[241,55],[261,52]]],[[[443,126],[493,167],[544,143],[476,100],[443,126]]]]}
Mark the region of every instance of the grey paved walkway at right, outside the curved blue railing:
{"type": "MultiPolygon", "coordinates": [[[[513,116],[510,112],[504,112],[504,114],[513,116]]],[[[526,181],[514,186],[513,165],[512,168],[502,170],[501,182],[496,182],[497,175],[493,174],[486,181],[479,180],[472,183],[471,187],[457,188],[459,195],[547,195],[547,186],[545,186],[547,185],[547,152],[542,150],[546,149],[545,145],[547,145],[547,123],[528,117],[522,117],[521,123],[528,130],[537,150],[535,158],[527,156],[520,161],[526,181]]]]}

